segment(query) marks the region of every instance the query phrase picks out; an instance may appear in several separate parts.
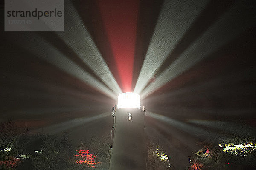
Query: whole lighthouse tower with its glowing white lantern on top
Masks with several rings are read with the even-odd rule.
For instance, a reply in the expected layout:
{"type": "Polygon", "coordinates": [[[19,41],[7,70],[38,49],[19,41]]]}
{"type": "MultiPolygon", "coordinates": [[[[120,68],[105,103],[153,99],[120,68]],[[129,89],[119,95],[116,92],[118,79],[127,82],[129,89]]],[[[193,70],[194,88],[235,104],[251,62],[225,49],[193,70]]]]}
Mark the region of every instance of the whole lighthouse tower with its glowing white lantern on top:
{"type": "Polygon", "coordinates": [[[117,107],[113,107],[110,170],[147,170],[144,116],[140,95],[119,94],[117,107]]]}

